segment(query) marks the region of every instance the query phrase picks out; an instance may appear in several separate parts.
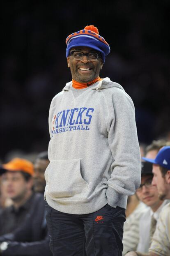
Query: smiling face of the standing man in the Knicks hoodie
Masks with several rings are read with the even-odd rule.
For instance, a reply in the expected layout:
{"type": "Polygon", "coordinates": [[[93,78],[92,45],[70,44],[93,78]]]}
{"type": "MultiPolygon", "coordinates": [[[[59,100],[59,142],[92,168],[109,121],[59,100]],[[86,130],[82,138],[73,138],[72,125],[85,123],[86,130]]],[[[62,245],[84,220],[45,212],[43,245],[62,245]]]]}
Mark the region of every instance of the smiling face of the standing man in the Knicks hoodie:
{"type": "MultiPolygon", "coordinates": [[[[85,46],[78,46],[71,49],[72,51],[81,51],[83,53],[96,53],[94,49],[85,46]]],[[[89,60],[87,56],[83,56],[82,60],[75,60],[72,55],[67,57],[67,64],[70,67],[72,78],[79,83],[88,83],[99,76],[103,66],[102,58],[97,60],[89,60]]]]}

